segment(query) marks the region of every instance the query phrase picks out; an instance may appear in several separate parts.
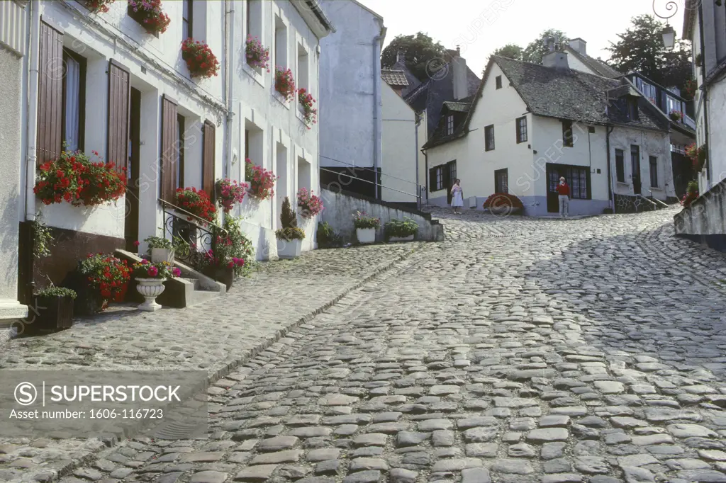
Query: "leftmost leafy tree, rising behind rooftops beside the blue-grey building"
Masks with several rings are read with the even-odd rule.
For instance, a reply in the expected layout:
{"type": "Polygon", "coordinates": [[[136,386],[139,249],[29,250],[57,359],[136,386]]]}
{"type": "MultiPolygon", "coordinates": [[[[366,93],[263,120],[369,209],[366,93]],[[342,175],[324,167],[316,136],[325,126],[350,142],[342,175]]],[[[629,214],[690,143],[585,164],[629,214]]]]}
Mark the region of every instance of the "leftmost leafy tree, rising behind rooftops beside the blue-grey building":
{"type": "Polygon", "coordinates": [[[396,63],[396,54],[403,51],[406,67],[418,80],[427,80],[436,70],[444,66],[444,46],[433,41],[423,32],[415,36],[396,36],[391,44],[383,49],[380,55],[380,65],[384,69],[393,67],[396,63]],[[437,60],[438,59],[438,60],[437,60]],[[431,63],[429,63],[431,61],[431,63]],[[428,64],[428,67],[427,67],[428,64]]]}

